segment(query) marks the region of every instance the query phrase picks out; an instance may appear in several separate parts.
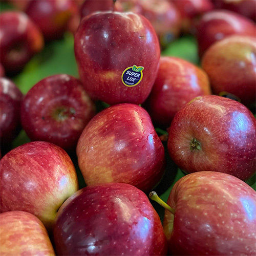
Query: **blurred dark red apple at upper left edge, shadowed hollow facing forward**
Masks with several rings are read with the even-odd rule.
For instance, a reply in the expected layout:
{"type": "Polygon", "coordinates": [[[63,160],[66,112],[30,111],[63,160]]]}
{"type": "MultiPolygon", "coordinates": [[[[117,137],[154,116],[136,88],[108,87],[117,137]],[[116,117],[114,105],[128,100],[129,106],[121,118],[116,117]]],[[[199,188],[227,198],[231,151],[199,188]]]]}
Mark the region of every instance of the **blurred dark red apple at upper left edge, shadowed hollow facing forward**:
{"type": "Polygon", "coordinates": [[[44,46],[44,38],[37,26],[23,12],[0,14],[0,55],[7,74],[12,75],[26,65],[44,46]]]}

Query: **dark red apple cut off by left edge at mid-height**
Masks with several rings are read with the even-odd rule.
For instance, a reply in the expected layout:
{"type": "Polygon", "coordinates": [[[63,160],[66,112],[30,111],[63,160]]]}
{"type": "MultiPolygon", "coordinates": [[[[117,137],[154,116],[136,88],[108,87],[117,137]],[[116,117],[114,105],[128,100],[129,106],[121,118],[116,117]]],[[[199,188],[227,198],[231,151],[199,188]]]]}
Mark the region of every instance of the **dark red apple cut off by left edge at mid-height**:
{"type": "Polygon", "coordinates": [[[20,125],[20,104],[22,92],[9,79],[0,78],[0,140],[1,148],[11,146],[11,142],[18,135],[20,125]]]}

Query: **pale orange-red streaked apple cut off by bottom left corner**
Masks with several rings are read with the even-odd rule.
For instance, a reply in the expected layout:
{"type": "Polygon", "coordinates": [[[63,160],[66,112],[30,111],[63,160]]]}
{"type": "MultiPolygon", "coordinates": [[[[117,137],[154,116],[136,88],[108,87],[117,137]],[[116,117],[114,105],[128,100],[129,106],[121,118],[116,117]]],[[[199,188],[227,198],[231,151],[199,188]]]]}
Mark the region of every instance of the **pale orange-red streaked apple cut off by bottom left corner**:
{"type": "Polygon", "coordinates": [[[0,214],[0,254],[55,255],[46,228],[25,211],[0,214]]]}

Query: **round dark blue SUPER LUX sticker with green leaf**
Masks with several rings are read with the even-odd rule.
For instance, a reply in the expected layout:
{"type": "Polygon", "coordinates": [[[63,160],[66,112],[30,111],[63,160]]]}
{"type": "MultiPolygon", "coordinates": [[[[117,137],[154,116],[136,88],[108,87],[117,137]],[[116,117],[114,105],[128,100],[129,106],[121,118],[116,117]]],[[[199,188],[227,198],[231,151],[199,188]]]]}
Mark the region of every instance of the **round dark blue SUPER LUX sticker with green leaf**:
{"type": "Polygon", "coordinates": [[[122,82],[127,87],[134,87],[140,83],[143,77],[144,67],[133,65],[126,68],[122,73],[122,82]]]}

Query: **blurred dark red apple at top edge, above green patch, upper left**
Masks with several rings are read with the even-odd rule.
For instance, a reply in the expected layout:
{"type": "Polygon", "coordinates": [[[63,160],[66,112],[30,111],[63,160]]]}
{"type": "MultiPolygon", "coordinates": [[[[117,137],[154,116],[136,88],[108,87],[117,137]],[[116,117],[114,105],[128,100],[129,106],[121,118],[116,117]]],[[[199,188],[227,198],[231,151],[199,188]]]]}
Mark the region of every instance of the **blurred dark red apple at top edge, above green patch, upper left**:
{"type": "Polygon", "coordinates": [[[77,5],[72,0],[31,0],[26,13],[49,41],[59,39],[65,33],[76,9],[77,5]]]}

